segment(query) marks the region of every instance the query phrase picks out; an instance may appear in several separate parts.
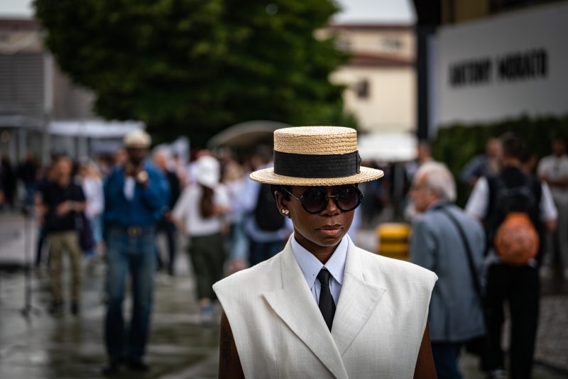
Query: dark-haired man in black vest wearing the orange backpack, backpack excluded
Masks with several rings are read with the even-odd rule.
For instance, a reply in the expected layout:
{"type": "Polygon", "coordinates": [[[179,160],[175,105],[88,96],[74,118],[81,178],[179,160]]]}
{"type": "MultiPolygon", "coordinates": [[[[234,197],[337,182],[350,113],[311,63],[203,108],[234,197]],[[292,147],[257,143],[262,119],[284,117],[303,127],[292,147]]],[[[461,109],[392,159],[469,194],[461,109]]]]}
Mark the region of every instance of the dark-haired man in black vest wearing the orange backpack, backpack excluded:
{"type": "Polygon", "coordinates": [[[488,180],[481,177],[471,192],[466,213],[484,220],[488,241],[488,270],[486,286],[486,316],[488,346],[484,368],[488,378],[505,378],[501,334],[503,331],[503,307],[510,307],[510,377],[530,378],[532,356],[538,322],[540,285],[537,259],[530,259],[525,265],[510,265],[496,253],[493,238],[506,217],[500,194],[503,190],[524,189],[532,201],[526,213],[537,231],[542,226],[549,231],[556,228],[557,211],[550,189],[523,172],[525,146],[520,138],[506,134],[501,138],[502,170],[497,177],[488,180]]]}

